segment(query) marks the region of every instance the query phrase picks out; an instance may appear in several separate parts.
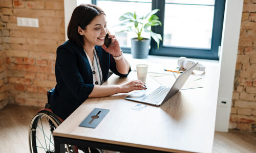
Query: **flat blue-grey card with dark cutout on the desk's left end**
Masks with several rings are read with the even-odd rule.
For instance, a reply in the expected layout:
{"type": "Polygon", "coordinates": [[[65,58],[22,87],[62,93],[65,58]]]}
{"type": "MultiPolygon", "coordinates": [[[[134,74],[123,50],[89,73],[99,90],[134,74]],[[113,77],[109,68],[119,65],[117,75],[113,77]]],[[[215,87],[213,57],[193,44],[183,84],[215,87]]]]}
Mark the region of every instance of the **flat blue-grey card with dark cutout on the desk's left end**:
{"type": "Polygon", "coordinates": [[[95,108],[79,126],[95,128],[110,110],[95,108]]]}

